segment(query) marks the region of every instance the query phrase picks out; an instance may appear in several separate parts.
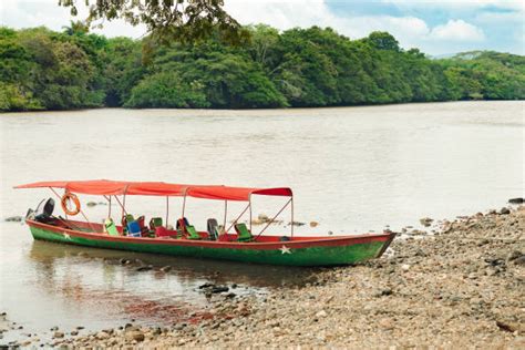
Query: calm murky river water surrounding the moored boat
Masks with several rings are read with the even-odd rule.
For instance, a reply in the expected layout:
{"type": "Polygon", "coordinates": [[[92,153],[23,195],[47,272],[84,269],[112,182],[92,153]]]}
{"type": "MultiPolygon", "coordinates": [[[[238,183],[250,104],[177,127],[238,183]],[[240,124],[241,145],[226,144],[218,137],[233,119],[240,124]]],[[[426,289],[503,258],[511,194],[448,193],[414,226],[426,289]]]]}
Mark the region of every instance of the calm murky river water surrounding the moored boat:
{"type": "MultiPolygon", "coordinates": [[[[453,218],[524,195],[524,102],[460,102],[262,111],[94,110],[0,116],[1,216],[23,215],[50,196],[14,191],[44,179],[111,178],[290,186],[303,234],[400,229],[453,218]]],[[[101,198],[86,198],[87,200],[101,198]]],[[[133,214],[164,215],[164,198],[126,199],[133,214]]],[[[286,202],[256,198],[271,216],[286,202]]],[[[112,208],[116,210],[116,207],[112,208]]],[[[243,206],[230,205],[228,219],[243,206]]],[[[107,206],[85,207],[101,220],[107,206]]],[[[181,210],[172,198],[171,217],[181,210]]],[[[204,229],[223,204],[188,199],[204,229]]],[[[289,212],[281,217],[289,220],[289,212]]],[[[172,222],[173,222],[172,219],[172,222]]],[[[0,311],[24,331],[115,322],[175,322],[206,307],[205,281],[238,294],[301,282],[309,270],[131,255],[33,241],[27,226],[0,223],[0,311]],[[169,274],[114,264],[138,257],[169,274]],[[105,258],[105,259],[104,259],[105,258]]],[[[276,226],[271,234],[289,227],[276,226]]],[[[4,334],[19,337],[18,333],[4,334]]]]}

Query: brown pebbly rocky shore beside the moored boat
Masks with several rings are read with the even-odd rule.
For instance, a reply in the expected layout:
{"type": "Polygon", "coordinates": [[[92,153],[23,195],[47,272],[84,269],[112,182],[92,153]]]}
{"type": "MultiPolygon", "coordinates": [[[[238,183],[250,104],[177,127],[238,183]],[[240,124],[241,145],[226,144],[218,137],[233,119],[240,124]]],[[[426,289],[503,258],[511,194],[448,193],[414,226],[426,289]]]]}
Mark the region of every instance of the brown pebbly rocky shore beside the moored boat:
{"type": "Polygon", "coordinates": [[[322,269],[305,286],[266,298],[214,295],[198,322],[58,332],[50,344],[524,349],[525,206],[433,225],[433,234],[406,230],[380,259],[322,269]]]}

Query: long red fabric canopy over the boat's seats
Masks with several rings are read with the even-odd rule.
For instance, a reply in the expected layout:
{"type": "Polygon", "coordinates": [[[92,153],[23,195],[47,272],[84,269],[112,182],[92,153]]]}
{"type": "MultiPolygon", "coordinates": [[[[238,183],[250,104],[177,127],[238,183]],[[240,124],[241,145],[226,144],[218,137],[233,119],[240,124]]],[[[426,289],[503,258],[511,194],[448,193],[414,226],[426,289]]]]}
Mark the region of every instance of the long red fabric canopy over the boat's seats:
{"type": "Polygon", "coordinates": [[[117,182],[109,179],[93,181],[53,181],[19,185],[14,188],[64,188],[73,193],[87,195],[142,195],[142,196],[189,196],[205,199],[249,200],[251,194],[265,196],[291,197],[290,188],[249,188],[228,186],[195,186],[159,182],[117,182]]]}

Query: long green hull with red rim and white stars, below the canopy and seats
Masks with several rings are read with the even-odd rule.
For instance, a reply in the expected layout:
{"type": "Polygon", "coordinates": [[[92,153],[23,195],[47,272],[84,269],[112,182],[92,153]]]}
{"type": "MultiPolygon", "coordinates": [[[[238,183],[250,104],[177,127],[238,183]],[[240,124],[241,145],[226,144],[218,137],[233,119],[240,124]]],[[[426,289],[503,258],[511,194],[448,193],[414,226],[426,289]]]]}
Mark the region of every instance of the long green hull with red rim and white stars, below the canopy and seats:
{"type": "MultiPolygon", "coordinates": [[[[114,237],[100,233],[65,229],[38,222],[27,222],[34,239],[93,248],[148,254],[225,259],[287,266],[349,265],[378,258],[395,234],[370,234],[291,241],[209,241],[114,237]]],[[[294,238],[296,239],[296,238],[294,238]]]]}

